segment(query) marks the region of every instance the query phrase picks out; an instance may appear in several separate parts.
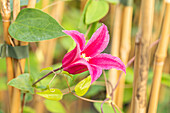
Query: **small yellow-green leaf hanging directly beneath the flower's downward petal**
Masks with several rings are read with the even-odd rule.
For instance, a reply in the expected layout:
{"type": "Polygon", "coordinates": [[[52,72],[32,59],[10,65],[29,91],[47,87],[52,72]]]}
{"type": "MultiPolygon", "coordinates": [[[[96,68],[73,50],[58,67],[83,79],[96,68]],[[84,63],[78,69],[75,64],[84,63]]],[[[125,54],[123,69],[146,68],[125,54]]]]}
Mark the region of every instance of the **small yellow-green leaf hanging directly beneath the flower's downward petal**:
{"type": "Polygon", "coordinates": [[[80,81],[76,87],[75,92],[78,96],[83,96],[88,91],[89,87],[91,85],[91,76],[88,76],[87,78],[80,81]]]}

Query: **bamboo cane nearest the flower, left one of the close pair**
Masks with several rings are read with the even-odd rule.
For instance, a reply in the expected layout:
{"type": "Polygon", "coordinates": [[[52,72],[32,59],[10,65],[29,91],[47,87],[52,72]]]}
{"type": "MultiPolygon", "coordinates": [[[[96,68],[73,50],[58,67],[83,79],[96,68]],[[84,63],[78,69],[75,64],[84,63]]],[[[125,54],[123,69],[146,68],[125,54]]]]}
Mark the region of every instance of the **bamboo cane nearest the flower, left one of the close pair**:
{"type": "MultiPolygon", "coordinates": [[[[116,6],[116,11],[115,11],[115,20],[114,20],[114,25],[113,25],[113,38],[111,42],[111,54],[113,56],[119,57],[119,47],[120,47],[120,36],[121,36],[121,19],[122,19],[122,7],[121,5],[116,6]]],[[[111,69],[109,70],[109,81],[115,86],[117,82],[117,75],[118,71],[116,69],[111,69]]],[[[109,94],[111,93],[111,90],[109,90],[109,94]]],[[[114,92],[113,96],[113,101],[115,101],[115,95],[116,93],[114,92]]]]}

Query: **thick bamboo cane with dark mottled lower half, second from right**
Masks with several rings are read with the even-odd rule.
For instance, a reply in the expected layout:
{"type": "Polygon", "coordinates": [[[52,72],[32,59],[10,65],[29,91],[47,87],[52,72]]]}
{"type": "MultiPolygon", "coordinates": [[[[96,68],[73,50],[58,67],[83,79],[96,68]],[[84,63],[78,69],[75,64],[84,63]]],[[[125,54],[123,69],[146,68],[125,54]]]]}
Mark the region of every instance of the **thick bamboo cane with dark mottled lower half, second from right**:
{"type": "Polygon", "coordinates": [[[132,113],[146,112],[149,44],[152,35],[154,0],[142,0],[141,36],[136,38],[132,113]]]}

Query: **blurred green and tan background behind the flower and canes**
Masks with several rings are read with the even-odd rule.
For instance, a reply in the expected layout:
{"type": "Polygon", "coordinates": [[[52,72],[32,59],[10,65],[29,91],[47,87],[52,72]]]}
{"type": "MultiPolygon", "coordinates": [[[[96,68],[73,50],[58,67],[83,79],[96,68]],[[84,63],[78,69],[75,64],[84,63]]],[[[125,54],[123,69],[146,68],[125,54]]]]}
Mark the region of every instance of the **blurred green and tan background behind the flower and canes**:
{"type": "MultiPolygon", "coordinates": [[[[79,27],[79,22],[82,16],[82,12],[87,0],[39,0],[36,4],[36,8],[43,10],[52,17],[54,17],[66,30],[78,30],[81,33],[86,34],[88,26],[79,27]]],[[[134,0],[133,4],[133,15],[132,15],[132,29],[130,36],[130,60],[134,56],[135,48],[135,37],[138,32],[139,18],[140,18],[140,4],[141,0],[134,0]]],[[[100,22],[104,23],[109,28],[110,33],[110,44],[105,53],[111,53],[111,42],[113,37],[114,21],[115,21],[115,4],[109,3],[109,12],[104,16],[100,22]]],[[[123,8],[123,6],[120,6],[123,8]]],[[[162,20],[164,17],[165,3],[163,0],[155,0],[155,9],[154,9],[154,21],[153,21],[153,32],[151,43],[157,40],[160,37],[160,31],[162,26],[162,20]]],[[[122,17],[122,19],[124,19],[122,17]]],[[[0,15],[0,20],[2,17],[0,15]]],[[[120,20],[121,21],[121,20],[120,20]]],[[[97,27],[101,24],[99,23],[97,27]]],[[[169,32],[170,34],[170,32],[169,32]]],[[[120,33],[121,35],[121,33],[120,33]]],[[[87,38],[87,40],[90,37],[87,38]]],[[[170,41],[170,40],[169,40],[170,41]]],[[[0,21],[0,43],[3,43],[3,26],[2,21],[0,21]]],[[[170,44],[170,42],[169,42],[170,44]]],[[[52,39],[49,41],[42,41],[36,43],[30,43],[29,45],[29,58],[27,59],[25,70],[30,72],[31,76],[35,79],[40,78],[45,75],[47,72],[40,73],[40,69],[48,66],[57,68],[61,66],[61,61],[64,55],[75,47],[75,43],[71,37],[61,37],[57,39],[52,39]]],[[[153,78],[153,61],[155,56],[157,45],[151,49],[150,56],[150,69],[147,82],[147,101],[149,100],[149,94],[151,89],[151,83],[153,78]]],[[[120,52],[120,51],[119,51],[120,52]]],[[[77,84],[84,77],[89,75],[88,72],[84,72],[79,75],[74,75],[73,79],[67,77],[69,80],[70,86],[77,84]]],[[[109,72],[106,71],[107,77],[109,72]]],[[[123,96],[123,111],[124,113],[130,113],[130,102],[132,98],[132,87],[133,87],[133,64],[127,68],[127,74],[125,76],[125,86],[124,86],[124,96],[123,96]]],[[[39,84],[46,86],[51,80],[51,76],[42,80],[39,84]]],[[[109,78],[109,77],[108,77],[109,78]]],[[[56,87],[61,90],[67,88],[65,79],[61,76],[56,77],[52,82],[50,87],[56,87]]],[[[9,106],[7,99],[7,77],[6,77],[6,63],[5,59],[0,59],[0,113],[7,113],[9,106]]],[[[103,75],[95,82],[84,96],[86,98],[94,100],[104,100],[106,97],[106,88],[104,84],[103,75]]],[[[107,106],[106,106],[107,107],[107,106]]],[[[110,109],[110,108],[108,108],[110,109]]],[[[26,104],[24,108],[24,113],[98,113],[100,111],[100,103],[90,103],[78,99],[74,95],[67,94],[64,98],[59,101],[51,101],[43,99],[37,95],[26,95],[26,104]]],[[[170,112],[170,45],[168,46],[167,58],[165,60],[161,89],[159,94],[159,104],[157,113],[169,113],[170,112]]],[[[112,113],[108,111],[106,113],[112,113]]]]}

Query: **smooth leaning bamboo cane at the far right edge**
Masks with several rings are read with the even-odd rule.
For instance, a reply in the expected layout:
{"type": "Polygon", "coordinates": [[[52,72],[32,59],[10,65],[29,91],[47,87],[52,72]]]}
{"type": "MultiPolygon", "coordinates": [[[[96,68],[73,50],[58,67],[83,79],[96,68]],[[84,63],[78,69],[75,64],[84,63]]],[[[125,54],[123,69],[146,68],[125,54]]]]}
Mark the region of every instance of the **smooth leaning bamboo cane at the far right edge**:
{"type": "Polygon", "coordinates": [[[169,29],[170,29],[170,2],[169,3],[167,2],[161,38],[155,55],[154,77],[148,106],[149,107],[148,113],[156,113],[157,111],[162,70],[165,58],[167,56],[169,29]]]}

